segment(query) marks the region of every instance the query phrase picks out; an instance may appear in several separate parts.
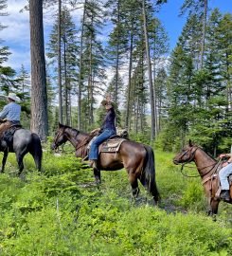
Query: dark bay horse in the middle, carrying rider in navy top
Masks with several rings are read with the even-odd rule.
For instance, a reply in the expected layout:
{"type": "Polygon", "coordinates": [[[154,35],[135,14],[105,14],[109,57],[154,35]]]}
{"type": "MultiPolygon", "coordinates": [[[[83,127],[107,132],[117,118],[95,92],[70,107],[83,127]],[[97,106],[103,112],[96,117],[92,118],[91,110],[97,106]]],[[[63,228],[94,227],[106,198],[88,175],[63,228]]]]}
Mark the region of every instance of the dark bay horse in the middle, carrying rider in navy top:
{"type": "MultiPolygon", "coordinates": [[[[80,132],[70,126],[59,123],[59,128],[54,137],[51,149],[55,150],[67,140],[76,150],[76,156],[83,158],[87,152],[91,134],[80,132]]],[[[138,195],[138,180],[146,188],[156,204],[159,192],[155,182],[154,155],[152,147],[131,140],[124,140],[118,152],[101,152],[98,155],[97,168],[94,168],[96,183],[100,183],[100,170],[116,171],[123,167],[126,169],[134,197],[138,195]]]]}

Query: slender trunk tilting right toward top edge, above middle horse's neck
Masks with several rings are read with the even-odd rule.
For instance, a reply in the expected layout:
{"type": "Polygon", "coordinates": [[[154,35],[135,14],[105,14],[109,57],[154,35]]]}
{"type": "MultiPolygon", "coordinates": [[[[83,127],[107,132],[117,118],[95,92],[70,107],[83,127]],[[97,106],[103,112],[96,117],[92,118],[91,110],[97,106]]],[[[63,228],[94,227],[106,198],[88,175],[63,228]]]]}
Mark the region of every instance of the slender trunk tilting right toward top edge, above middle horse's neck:
{"type": "Polygon", "coordinates": [[[82,25],[81,25],[81,34],[80,34],[80,63],[79,63],[79,96],[78,96],[78,128],[80,130],[80,119],[81,119],[81,74],[82,74],[82,51],[83,51],[83,29],[84,29],[84,22],[85,22],[85,12],[86,12],[86,2],[84,1],[83,4],[83,19],[82,19],[82,25]]]}

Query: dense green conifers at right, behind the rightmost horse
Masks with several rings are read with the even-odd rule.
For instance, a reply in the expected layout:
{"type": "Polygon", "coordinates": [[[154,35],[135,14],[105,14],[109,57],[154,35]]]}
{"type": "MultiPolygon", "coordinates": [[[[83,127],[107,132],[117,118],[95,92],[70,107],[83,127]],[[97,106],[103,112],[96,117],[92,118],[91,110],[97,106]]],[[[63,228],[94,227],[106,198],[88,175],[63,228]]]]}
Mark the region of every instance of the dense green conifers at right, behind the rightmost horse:
{"type": "Polygon", "coordinates": [[[213,9],[208,15],[204,65],[201,66],[203,20],[199,15],[203,15],[204,6],[204,1],[187,0],[182,7],[182,10],[189,10],[189,16],[171,53],[169,113],[157,142],[162,149],[174,150],[191,137],[207,152],[218,155],[231,144],[231,52],[228,43],[231,35],[227,32],[231,16],[223,15],[219,9],[213,9]]]}

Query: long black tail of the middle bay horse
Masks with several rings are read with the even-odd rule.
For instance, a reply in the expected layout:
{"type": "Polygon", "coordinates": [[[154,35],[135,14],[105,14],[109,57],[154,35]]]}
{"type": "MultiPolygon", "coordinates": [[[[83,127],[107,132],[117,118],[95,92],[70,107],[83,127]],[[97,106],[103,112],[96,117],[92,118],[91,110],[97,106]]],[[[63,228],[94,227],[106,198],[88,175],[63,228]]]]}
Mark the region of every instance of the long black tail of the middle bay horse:
{"type": "Polygon", "coordinates": [[[160,195],[155,182],[154,154],[152,147],[144,145],[147,155],[145,159],[143,183],[148,191],[152,194],[155,202],[160,200],[160,195]]]}

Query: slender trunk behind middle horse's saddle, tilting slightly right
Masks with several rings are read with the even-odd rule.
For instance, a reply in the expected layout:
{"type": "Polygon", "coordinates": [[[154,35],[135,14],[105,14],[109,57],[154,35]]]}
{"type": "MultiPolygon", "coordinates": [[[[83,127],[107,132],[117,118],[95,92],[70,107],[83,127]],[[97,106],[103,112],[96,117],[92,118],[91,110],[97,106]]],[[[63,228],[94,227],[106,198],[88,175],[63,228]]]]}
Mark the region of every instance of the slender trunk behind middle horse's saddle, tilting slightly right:
{"type": "Polygon", "coordinates": [[[130,42],[130,63],[129,63],[129,80],[127,89],[127,107],[125,128],[129,128],[130,105],[131,105],[131,87],[132,87],[132,69],[133,69],[133,44],[134,44],[134,19],[132,20],[131,42],[130,42]]]}

